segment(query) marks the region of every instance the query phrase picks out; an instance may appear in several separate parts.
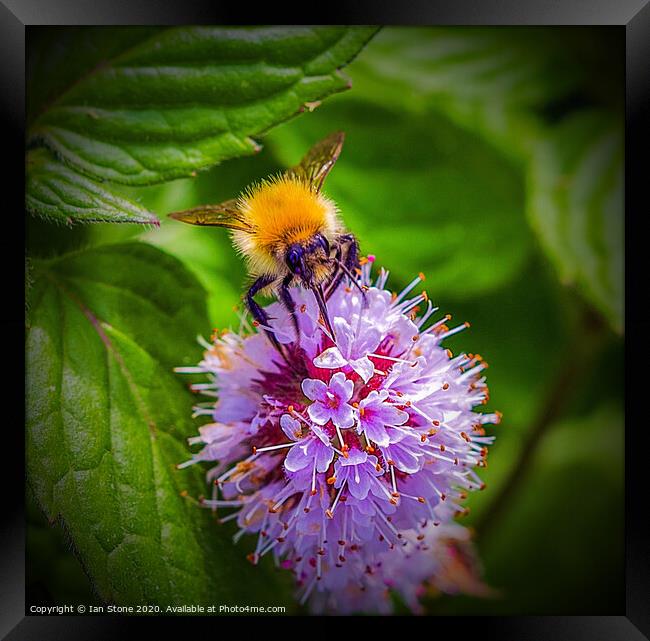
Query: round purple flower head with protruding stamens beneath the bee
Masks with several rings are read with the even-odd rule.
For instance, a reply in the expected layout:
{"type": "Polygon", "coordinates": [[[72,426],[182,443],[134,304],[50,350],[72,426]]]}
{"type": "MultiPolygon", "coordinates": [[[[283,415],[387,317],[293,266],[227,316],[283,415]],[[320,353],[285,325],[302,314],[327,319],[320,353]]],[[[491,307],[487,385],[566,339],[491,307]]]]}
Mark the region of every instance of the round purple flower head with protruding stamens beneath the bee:
{"type": "Polygon", "coordinates": [[[327,300],[335,340],[313,294],[295,288],[298,340],[285,308],[266,308],[283,354],[242,319],[178,370],[208,374],[192,387],[211,399],[195,407],[210,420],[190,439],[203,447],[179,467],[216,462],[203,505],[236,519],[236,540],[257,535],[249,560],[272,554],[314,611],[389,612],[391,592],[414,611],[431,589],[488,594],[453,521],[484,487],[484,425],[500,420],[475,411],[487,364],[442,346],[467,324],[430,322],[426,292],[407,297],[422,276],[395,295],[371,267],[327,300]]]}

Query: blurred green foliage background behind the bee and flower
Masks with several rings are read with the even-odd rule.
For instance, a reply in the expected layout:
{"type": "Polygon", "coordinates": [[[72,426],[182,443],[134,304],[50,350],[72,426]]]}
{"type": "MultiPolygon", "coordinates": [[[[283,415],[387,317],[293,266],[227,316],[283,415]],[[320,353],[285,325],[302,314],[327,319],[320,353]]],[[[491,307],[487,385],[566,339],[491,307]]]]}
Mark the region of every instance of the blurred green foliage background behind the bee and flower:
{"type": "MultiPolygon", "coordinates": [[[[28,251],[145,240],[200,279],[214,327],[236,326],[246,274],[227,234],[165,214],[233,197],[344,130],[326,193],[394,289],[422,271],[441,312],[471,322],[449,347],[486,358],[504,415],[463,519],[500,595],[428,612],[620,613],[623,52],[616,28],[384,28],[346,69],[352,89],[259,138],[261,153],[124,188],[159,229],[29,218],[28,251]]],[[[33,594],[90,598],[32,508],[27,561],[33,594]]]]}

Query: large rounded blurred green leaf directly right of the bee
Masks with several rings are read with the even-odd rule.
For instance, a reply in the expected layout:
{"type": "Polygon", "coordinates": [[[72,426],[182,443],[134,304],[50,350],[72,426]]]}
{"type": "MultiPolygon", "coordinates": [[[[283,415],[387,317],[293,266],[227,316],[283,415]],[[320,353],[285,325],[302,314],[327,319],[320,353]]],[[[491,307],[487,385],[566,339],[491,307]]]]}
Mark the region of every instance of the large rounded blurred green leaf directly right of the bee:
{"type": "Polygon", "coordinates": [[[517,276],[533,237],[516,166],[439,114],[404,118],[359,95],[336,97],[266,140],[290,165],[332,123],[346,140],[324,190],[361,250],[390,270],[393,287],[422,271],[441,303],[517,276]]]}

